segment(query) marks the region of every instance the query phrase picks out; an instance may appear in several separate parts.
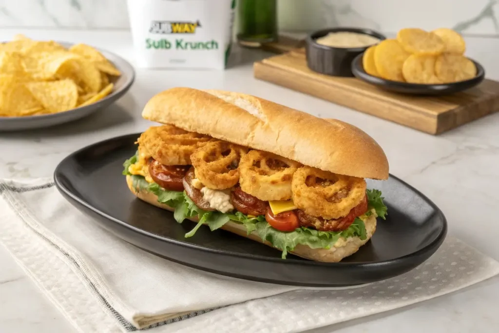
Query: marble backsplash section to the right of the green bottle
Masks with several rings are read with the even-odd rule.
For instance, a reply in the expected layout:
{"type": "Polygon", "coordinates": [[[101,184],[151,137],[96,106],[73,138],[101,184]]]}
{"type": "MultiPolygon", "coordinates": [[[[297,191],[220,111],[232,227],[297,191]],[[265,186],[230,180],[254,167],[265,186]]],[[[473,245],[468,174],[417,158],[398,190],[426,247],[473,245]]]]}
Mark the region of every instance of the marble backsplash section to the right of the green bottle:
{"type": "Polygon", "coordinates": [[[281,0],[283,30],[362,26],[384,32],[402,27],[454,28],[465,34],[497,35],[497,0],[281,0]]]}

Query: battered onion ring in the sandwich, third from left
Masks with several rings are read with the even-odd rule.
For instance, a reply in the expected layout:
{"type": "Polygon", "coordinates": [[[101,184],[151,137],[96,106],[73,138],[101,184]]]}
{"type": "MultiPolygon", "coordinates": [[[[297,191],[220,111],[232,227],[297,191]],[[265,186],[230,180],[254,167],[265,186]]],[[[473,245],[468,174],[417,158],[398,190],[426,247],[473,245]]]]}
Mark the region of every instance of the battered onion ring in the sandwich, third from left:
{"type": "Polygon", "coordinates": [[[291,180],[298,162],[260,150],[251,150],[239,163],[241,189],[263,201],[291,199],[291,180]]]}

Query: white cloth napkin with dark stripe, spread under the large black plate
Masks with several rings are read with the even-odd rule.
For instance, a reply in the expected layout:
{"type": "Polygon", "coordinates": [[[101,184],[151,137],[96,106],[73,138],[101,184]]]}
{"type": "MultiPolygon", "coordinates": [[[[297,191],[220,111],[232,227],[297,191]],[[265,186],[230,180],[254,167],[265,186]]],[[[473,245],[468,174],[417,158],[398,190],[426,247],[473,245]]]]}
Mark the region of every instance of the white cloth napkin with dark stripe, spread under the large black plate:
{"type": "Polygon", "coordinates": [[[0,180],[0,242],[79,332],[301,332],[428,300],[499,274],[459,240],[417,269],[350,289],[218,276],[144,252],[71,206],[52,180],[0,180]]]}

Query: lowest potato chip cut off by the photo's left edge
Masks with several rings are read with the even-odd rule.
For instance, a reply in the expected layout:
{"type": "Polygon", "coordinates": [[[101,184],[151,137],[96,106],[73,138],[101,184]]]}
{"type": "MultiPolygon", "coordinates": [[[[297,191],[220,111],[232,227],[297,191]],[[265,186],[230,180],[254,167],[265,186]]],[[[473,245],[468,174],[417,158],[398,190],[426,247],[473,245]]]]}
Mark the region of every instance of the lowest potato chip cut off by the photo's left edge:
{"type": "Polygon", "coordinates": [[[12,75],[2,75],[0,79],[0,109],[11,115],[24,110],[40,107],[23,82],[12,75]]]}

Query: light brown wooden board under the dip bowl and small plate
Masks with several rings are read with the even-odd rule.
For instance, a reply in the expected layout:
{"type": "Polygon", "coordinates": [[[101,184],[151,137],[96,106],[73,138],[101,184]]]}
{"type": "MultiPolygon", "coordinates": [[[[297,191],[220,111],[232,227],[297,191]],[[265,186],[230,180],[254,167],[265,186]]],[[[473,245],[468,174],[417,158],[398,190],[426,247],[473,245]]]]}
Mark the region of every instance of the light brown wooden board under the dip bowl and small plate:
{"type": "Polygon", "coordinates": [[[499,110],[499,82],[452,95],[410,96],[379,89],[357,78],[308,69],[304,49],[255,62],[254,76],[296,91],[426,132],[440,134],[499,110]]]}

